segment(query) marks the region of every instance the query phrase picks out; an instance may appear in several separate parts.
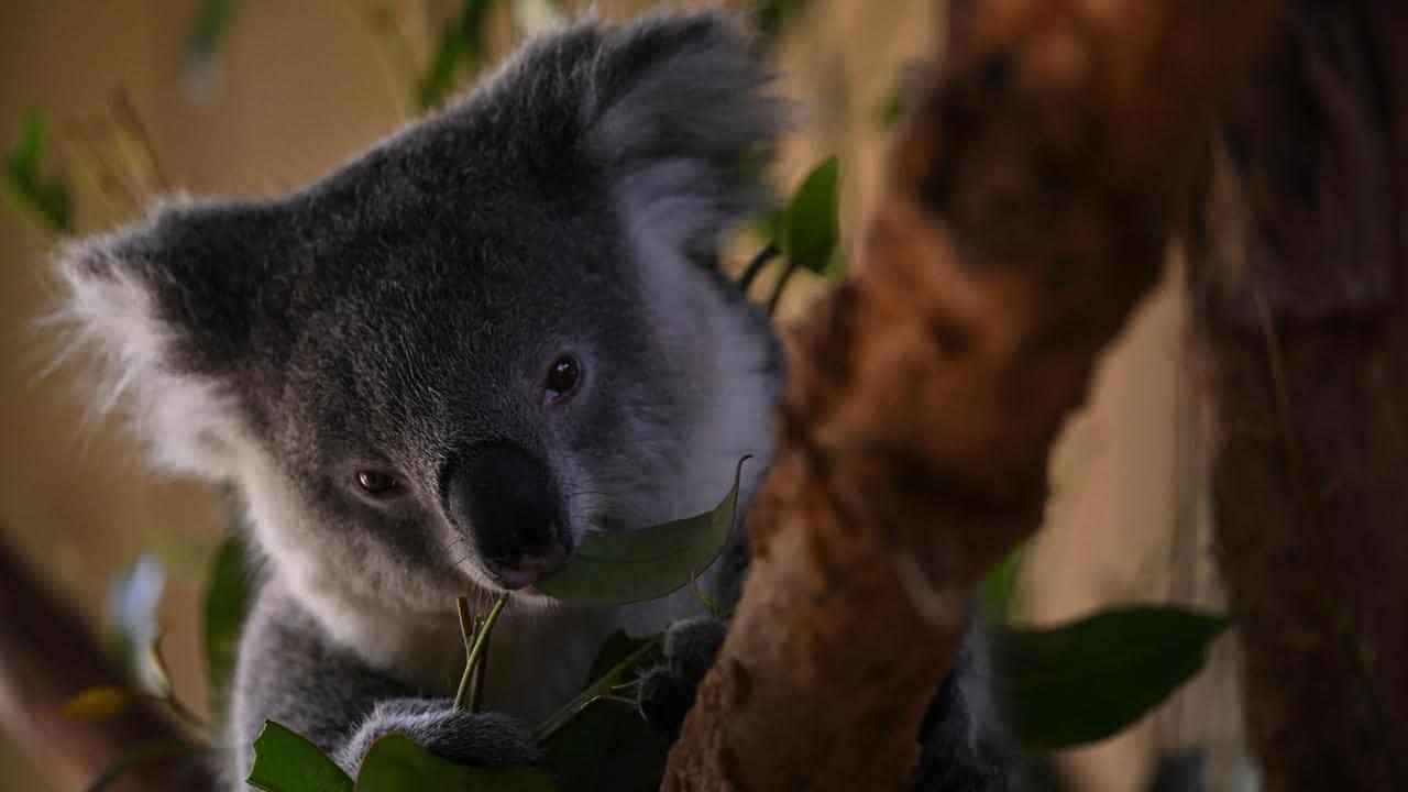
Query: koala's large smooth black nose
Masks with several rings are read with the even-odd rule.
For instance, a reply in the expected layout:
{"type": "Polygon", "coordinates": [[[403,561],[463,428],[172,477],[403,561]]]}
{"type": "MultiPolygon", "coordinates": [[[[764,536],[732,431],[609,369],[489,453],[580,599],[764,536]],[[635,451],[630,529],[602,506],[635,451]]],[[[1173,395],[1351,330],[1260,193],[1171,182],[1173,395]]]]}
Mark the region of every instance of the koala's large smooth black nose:
{"type": "Polygon", "coordinates": [[[465,450],[446,471],[445,506],[504,588],[529,586],[572,551],[562,499],[543,465],[511,444],[465,450]]]}

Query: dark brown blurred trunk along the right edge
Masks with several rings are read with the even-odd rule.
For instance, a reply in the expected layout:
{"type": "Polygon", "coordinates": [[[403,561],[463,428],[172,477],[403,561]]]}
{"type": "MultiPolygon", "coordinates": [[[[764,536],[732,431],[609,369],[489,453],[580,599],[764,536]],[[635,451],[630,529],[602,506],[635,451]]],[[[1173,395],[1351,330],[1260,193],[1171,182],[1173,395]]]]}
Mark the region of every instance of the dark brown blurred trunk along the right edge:
{"type": "Polygon", "coordinates": [[[1269,792],[1408,789],[1408,6],[1274,41],[1191,256],[1247,730],[1269,792]]]}

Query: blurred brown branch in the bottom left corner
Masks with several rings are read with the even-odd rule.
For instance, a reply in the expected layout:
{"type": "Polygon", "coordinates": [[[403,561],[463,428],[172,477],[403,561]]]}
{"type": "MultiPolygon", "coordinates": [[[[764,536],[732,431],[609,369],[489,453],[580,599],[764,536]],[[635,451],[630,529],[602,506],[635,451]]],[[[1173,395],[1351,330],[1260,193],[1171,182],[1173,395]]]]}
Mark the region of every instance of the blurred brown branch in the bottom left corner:
{"type": "MultiPolygon", "coordinates": [[[[186,741],[145,703],[110,720],[65,719],[61,707],[77,692],[121,685],[87,627],[0,544],[0,729],[51,779],[92,784],[108,767],[145,745],[186,741]]],[[[210,768],[193,758],[145,762],[107,789],[211,789],[210,768]]]]}

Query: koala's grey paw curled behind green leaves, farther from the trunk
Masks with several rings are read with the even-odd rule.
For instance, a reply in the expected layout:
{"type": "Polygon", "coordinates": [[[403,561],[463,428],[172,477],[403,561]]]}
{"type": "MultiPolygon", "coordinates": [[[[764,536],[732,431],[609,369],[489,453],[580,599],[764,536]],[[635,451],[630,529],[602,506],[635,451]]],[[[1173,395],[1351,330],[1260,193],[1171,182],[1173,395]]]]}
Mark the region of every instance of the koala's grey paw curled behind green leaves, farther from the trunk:
{"type": "Polygon", "coordinates": [[[539,758],[528,730],[505,714],[456,710],[449,699],[389,699],[377,702],[338,751],[338,764],[356,775],[372,743],[387,734],[404,734],[429,753],[465,765],[524,765],[539,758]]]}

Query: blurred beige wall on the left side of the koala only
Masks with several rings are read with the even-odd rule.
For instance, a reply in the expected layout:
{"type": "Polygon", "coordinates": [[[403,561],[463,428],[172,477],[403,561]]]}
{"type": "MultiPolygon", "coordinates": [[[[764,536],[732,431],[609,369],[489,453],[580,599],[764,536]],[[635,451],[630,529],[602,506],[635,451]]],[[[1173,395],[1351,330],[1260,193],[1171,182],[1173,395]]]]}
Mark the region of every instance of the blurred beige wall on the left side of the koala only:
{"type": "MultiPolygon", "coordinates": [[[[394,128],[397,106],[367,30],[338,0],[246,1],[230,41],[224,90],[208,104],[182,94],[182,39],[194,3],[7,0],[0,4],[0,140],[25,107],[58,120],[108,113],[120,89],[161,152],[170,187],[260,194],[317,176],[394,128]]],[[[70,161],[72,163],[73,161],[70,161]]],[[[124,213],[70,168],[84,231],[124,213]]],[[[130,437],[84,420],[72,372],[41,378],[52,338],[34,331],[52,295],[54,240],[0,213],[0,521],[94,620],[110,576],[144,547],[191,555],[221,509],[210,488],[144,472],[130,437]],[[186,551],[186,552],[183,552],[186,551]]],[[[196,609],[200,569],[173,569],[163,623],[179,693],[204,700],[196,609]]],[[[0,765],[0,789],[35,789],[23,765],[0,765]]]]}

